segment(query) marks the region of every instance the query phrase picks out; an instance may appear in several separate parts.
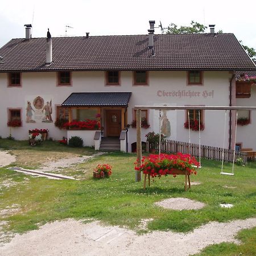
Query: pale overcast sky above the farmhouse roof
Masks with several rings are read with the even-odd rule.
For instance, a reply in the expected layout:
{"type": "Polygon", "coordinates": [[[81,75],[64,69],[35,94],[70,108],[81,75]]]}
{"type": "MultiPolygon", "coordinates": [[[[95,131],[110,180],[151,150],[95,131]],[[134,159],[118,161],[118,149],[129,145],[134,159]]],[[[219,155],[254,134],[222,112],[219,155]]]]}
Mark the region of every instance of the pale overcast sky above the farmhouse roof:
{"type": "MultiPolygon", "coordinates": [[[[24,24],[31,23],[32,37],[147,34],[148,20],[178,26],[191,20],[216,24],[216,31],[234,33],[243,44],[256,49],[256,1],[151,1],[151,0],[1,0],[0,47],[12,38],[24,38],[24,24]]],[[[160,29],[155,29],[160,34],[160,29]]],[[[207,31],[209,32],[209,31],[207,31]]]]}

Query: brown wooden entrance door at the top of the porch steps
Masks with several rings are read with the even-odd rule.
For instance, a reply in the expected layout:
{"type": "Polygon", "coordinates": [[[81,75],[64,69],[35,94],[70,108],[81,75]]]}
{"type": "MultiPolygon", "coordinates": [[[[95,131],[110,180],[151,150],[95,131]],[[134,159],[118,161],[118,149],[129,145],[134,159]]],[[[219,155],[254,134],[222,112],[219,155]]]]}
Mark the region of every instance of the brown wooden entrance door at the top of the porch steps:
{"type": "Polygon", "coordinates": [[[106,110],[106,135],[119,137],[121,132],[121,110],[106,110]]]}

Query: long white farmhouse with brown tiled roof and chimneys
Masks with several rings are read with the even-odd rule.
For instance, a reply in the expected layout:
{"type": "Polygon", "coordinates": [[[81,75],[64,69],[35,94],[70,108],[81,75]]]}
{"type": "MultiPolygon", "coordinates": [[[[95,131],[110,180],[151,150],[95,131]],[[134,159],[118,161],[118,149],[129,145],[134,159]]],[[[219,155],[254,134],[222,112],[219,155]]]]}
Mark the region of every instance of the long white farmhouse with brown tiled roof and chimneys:
{"type": "MultiPolygon", "coordinates": [[[[15,139],[28,139],[28,130],[48,129],[55,140],[79,135],[85,146],[98,149],[107,148],[112,138],[119,141],[127,128],[121,150],[131,152],[135,105],[256,105],[256,86],[236,81],[237,74],[254,74],[256,67],[233,34],[212,29],[208,34],[155,35],[152,20],[148,35],[52,38],[48,31],[47,38],[31,38],[30,30],[27,24],[26,38],[0,48],[3,138],[10,134],[8,123],[18,120],[20,126],[11,127],[15,139]],[[56,121],[61,126],[74,119],[99,121],[100,127],[88,131],[55,126],[56,121]]],[[[149,131],[159,133],[159,112],[143,110],[142,117],[146,141],[149,131]]],[[[189,118],[199,121],[199,113],[189,110],[189,118]]],[[[256,150],[256,112],[243,111],[238,118],[249,121],[238,126],[237,143],[256,150]]],[[[202,144],[223,146],[224,120],[224,111],[201,110],[202,144]]],[[[187,121],[187,110],[162,113],[167,139],[188,141],[187,121]]],[[[226,148],[235,143],[234,123],[234,114],[228,112],[226,148]]],[[[191,142],[198,142],[198,131],[191,131],[191,142]]]]}

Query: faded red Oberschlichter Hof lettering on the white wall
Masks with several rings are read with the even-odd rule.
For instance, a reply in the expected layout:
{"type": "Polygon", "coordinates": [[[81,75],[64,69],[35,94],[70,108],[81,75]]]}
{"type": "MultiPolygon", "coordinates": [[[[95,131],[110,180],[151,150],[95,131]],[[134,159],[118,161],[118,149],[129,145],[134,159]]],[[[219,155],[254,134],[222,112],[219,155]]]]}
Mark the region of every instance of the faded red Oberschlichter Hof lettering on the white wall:
{"type": "Polygon", "coordinates": [[[174,98],[213,98],[214,90],[204,90],[203,92],[196,92],[194,90],[158,90],[156,92],[158,97],[174,97],[174,98]]]}

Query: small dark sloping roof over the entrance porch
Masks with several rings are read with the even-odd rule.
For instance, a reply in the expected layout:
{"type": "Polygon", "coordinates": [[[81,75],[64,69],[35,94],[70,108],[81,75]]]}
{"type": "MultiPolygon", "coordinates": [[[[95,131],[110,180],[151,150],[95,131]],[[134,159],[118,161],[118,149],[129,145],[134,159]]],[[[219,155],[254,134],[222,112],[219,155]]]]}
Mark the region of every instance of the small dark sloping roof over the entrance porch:
{"type": "Polygon", "coordinates": [[[128,106],[131,92],[72,93],[61,106],[128,106]]]}

